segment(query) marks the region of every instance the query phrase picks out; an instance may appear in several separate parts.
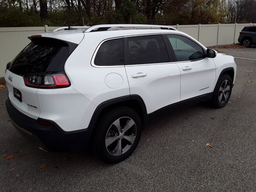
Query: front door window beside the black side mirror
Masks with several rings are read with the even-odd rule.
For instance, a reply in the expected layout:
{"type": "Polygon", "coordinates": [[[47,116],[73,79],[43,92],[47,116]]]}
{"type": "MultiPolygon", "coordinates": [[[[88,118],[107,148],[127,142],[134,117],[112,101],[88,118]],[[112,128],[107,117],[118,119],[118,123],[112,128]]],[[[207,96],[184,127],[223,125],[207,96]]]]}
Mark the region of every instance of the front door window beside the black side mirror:
{"type": "Polygon", "coordinates": [[[201,46],[194,41],[180,35],[167,35],[177,61],[191,61],[204,58],[205,54],[201,46]]]}

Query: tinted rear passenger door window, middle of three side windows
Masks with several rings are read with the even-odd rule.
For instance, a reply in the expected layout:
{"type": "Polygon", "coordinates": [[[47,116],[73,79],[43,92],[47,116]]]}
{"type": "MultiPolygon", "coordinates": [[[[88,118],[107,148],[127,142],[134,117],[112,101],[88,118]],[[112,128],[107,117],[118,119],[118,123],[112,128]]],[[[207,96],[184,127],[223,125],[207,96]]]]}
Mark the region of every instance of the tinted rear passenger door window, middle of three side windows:
{"type": "Polygon", "coordinates": [[[170,62],[162,35],[128,37],[126,64],[170,62]]]}

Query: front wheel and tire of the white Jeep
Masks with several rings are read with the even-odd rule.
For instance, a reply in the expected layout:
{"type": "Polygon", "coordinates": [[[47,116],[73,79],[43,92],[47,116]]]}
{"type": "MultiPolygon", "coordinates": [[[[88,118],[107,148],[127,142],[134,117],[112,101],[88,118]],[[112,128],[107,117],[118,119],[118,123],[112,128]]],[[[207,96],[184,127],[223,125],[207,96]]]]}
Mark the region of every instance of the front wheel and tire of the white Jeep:
{"type": "Polygon", "coordinates": [[[218,80],[210,104],[214,108],[224,107],[230,98],[232,92],[232,79],[228,74],[223,74],[218,80]]]}

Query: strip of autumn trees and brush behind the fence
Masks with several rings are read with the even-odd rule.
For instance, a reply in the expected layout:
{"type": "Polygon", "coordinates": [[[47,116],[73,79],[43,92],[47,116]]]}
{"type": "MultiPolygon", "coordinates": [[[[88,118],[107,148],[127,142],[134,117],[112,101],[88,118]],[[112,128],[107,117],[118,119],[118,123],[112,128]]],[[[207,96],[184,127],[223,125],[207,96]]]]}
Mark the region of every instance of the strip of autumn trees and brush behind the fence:
{"type": "Polygon", "coordinates": [[[256,0],[0,0],[0,27],[156,24],[150,20],[168,25],[256,22],[256,0]]]}

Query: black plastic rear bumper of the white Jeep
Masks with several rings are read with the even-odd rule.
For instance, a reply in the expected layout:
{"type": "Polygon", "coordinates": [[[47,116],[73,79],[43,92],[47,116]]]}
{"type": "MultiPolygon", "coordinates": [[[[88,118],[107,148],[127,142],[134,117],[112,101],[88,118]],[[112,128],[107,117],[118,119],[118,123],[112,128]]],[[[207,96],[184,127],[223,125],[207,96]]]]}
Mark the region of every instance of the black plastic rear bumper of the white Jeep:
{"type": "Polygon", "coordinates": [[[56,123],[54,126],[44,126],[36,120],[19,112],[10,102],[5,102],[7,112],[14,127],[28,140],[38,147],[48,151],[82,150],[88,144],[92,128],[65,132],[56,123]]]}

